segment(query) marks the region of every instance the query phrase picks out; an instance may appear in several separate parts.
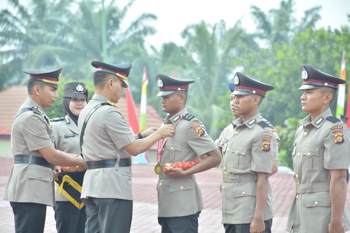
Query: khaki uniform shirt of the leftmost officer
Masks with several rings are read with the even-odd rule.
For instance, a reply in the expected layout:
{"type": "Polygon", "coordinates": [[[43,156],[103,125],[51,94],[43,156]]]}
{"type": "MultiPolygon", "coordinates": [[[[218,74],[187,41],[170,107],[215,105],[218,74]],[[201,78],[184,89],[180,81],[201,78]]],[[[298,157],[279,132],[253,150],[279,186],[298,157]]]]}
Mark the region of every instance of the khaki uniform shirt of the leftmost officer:
{"type": "MultiPolygon", "coordinates": [[[[39,104],[28,97],[20,109],[32,106],[39,107],[39,104]]],[[[48,123],[49,118],[43,110],[40,109],[40,112],[41,114],[26,111],[14,120],[11,129],[13,155],[32,155],[42,158],[38,150],[54,145],[54,137],[48,123]]],[[[54,206],[52,169],[35,164],[15,164],[7,181],[3,199],[10,202],[54,206]]]]}

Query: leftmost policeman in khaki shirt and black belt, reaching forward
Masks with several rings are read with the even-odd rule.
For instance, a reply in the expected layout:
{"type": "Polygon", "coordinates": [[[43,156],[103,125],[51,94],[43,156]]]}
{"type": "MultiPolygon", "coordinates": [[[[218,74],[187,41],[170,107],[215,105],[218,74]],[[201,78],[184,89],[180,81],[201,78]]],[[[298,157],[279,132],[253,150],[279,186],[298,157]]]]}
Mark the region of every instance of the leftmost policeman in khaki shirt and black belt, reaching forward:
{"type": "Polygon", "coordinates": [[[77,154],[55,150],[49,118],[43,111],[56,101],[62,68],[23,72],[29,74],[28,98],[12,124],[15,165],[4,199],[13,209],[16,232],[40,233],[44,231],[46,206],[55,205],[54,164],[86,168],[86,162],[77,154]]]}

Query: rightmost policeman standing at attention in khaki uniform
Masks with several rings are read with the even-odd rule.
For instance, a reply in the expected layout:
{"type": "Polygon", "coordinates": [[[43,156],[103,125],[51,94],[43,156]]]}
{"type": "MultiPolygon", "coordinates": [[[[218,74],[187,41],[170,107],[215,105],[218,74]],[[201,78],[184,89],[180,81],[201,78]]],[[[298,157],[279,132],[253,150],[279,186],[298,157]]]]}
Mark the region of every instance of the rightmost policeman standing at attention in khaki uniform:
{"type": "Polygon", "coordinates": [[[338,85],[345,80],[308,64],[302,65],[300,71],[301,109],[309,115],[295,133],[292,153],[295,195],[286,230],[349,231],[345,199],[350,133],[329,109],[338,85]]]}

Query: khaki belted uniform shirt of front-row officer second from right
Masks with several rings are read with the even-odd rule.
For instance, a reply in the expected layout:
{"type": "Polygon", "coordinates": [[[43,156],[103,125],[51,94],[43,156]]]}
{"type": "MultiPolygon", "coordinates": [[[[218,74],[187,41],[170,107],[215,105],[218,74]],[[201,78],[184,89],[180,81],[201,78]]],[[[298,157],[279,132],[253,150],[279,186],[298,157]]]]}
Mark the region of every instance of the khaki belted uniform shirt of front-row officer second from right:
{"type": "MultiPolygon", "coordinates": [[[[251,223],[255,212],[256,172],[271,173],[275,139],[269,128],[258,125],[260,114],[245,123],[236,118],[217,140],[222,148],[222,223],[251,223]],[[227,176],[226,176],[227,174],[227,176]],[[227,183],[225,181],[228,181],[227,183]]],[[[273,218],[272,199],[267,199],[264,221],[273,218]]]]}

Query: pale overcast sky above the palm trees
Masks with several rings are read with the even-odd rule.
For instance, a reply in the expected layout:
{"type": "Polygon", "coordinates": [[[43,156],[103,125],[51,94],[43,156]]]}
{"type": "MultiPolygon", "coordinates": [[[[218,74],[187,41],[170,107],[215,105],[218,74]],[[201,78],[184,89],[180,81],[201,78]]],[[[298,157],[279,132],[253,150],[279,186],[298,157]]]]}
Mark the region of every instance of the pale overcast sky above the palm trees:
{"type": "MultiPolygon", "coordinates": [[[[22,3],[28,0],[20,0],[22,3]]],[[[105,0],[107,5],[110,0],[105,0]]],[[[115,0],[116,4],[124,7],[129,0],[115,0]]],[[[278,8],[280,0],[137,0],[127,13],[126,20],[132,21],[143,12],[154,13],[158,16],[156,22],[151,23],[157,29],[154,36],[146,41],[156,48],[162,43],[173,41],[183,45],[181,31],[191,23],[204,20],[214,24],[220,20],[226,22],[226,28],[232,27],[238,19],[242,19],[242,26],[248,32],[254,31],[254,22],[250,15],[250,7],[255,5],[265,13],[271,8],[278,8]]],[[[298,20],[304,15],[304,10],[315,6],[322,6],[322,19],[316,27],[332,29],[342,25],[350,25],[346,14],[350,13],[350,0],[294,0],[295,16],[298,20]]],[[[0,8],[7,7],[7,0],[0,0],[0,8]]]]}

